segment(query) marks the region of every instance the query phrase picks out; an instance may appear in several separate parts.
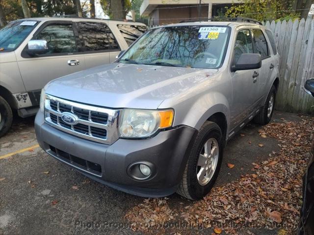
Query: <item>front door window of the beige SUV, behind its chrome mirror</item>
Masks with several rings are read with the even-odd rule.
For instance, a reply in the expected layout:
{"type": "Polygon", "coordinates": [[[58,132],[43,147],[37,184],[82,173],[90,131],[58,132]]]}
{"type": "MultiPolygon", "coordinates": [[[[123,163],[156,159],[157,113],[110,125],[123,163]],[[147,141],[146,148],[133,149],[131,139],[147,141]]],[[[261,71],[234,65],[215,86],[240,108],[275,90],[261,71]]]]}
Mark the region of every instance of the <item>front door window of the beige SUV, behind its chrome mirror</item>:
{"type": "Polygon", "coordinates": [[[49,50],[45,55],[78,52],[72,24],[49,24],[34,39],[47,41],[49,50]]]}

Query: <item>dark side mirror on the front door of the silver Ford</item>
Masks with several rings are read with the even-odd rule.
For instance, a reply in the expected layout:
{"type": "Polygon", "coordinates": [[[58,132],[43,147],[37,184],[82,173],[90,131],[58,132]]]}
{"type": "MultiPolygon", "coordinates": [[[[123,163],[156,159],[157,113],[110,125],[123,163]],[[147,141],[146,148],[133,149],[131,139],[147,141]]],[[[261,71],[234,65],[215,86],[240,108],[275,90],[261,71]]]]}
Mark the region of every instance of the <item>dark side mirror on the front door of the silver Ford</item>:
{"type": "Polygon", "coordinates": [[[262,58],[260,54],[244,53],[241,54],[231,71],[255,70],[262,67],[262,58]]]}

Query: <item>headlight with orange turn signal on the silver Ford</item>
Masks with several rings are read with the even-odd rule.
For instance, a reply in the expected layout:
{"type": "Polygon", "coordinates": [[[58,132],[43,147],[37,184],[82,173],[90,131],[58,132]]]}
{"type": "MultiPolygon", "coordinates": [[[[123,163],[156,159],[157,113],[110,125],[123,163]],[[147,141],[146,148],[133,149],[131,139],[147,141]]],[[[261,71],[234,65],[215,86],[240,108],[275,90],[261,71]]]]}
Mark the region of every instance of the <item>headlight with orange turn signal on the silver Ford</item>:
{"type": "Polygon", "coordinates": [[[172,126],[173,110],[124,109],[119,121],[122,138],[145,138],[154,135],[158,129],[172,126]]]}

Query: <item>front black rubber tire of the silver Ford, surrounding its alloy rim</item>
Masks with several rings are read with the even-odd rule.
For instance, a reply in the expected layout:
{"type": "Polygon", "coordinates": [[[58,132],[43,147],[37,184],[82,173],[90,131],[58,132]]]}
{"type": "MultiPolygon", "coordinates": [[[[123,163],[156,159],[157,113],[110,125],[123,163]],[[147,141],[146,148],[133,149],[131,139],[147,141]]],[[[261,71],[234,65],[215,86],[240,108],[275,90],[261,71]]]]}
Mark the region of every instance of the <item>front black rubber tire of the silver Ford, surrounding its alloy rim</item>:
{"type": "Polygon", "coordinates": [[[223,135],[219,126],[211,121],[206,121],[198,131],[195,141],[190,149],[187,164],[177,193],[187,199],[199,200],[206,196],[213,187],[222,163],[223,156],[223,135]],[[209,139],[215,139],[218,143],[218,160],[212,177],[206,185],[201,185],[197,179],[197,167],[200,153],[204,144],[209,139]]]}

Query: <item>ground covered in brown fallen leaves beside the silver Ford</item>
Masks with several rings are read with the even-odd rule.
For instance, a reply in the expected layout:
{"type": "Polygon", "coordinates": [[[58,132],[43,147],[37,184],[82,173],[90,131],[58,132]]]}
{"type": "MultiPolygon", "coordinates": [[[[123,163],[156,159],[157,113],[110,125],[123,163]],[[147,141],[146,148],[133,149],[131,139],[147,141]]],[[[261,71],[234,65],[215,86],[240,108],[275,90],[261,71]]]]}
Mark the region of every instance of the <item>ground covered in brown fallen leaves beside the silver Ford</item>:
{"type": "MultiPolygon", "coordinates": [[[[213,188],[204,200],[191,202],[183,210],[170,208],[168,198],[145,199],[126,214],[132,229],[152,232],[183,221],[185,227],[212,228],[212,234],[220,234],[221,230],[243,234],[239,228],[282,228],[283,235],[295,233],[314,118],[301,116],[300,121],[273,122],[261,127],[259,133],[262,138],[276,138],[280,151],[270,153],[267,161],[252,163],[252,174],[213,188]]],[[[184,229],[167,232],[181,233],[184,229]]]]}

